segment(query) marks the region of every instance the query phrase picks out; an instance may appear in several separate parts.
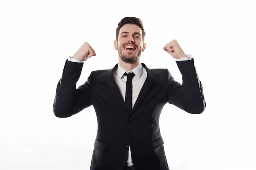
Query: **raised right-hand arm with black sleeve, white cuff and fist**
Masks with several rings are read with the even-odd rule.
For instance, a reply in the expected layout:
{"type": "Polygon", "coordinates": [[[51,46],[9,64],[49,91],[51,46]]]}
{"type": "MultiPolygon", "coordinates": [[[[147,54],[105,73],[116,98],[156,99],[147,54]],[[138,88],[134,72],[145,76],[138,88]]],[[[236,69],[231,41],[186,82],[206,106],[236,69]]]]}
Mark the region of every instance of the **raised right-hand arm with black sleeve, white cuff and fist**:
{"type": "Polygon", "coordinates": [[[173,58],[177,59],[178,68],[182,74],[182,86],[173,86],[177,83],[169,74],[168,102],[183,109],[188,113],[202,113],[206,107],[202,83],[195,70],[194,60],[188,57],[178,44],[173,40],[163,48],[173,58]],[[187,59],[186,59],[187,58],[187,59]],[[172,88],[175,87],[175,88],[172,88]]]}

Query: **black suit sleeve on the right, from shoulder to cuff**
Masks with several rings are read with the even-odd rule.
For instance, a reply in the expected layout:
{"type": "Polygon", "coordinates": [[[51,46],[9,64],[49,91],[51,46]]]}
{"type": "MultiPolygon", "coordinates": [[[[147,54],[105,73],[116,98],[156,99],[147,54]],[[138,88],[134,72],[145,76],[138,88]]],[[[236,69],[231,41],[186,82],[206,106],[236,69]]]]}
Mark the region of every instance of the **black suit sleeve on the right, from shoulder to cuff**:
{"type": "Polygon", "coordinates": [[[188,113],[202,113],[206,103],[193,58],[189,61],[177,61],[177,65],[182,74],[182,85],[178,85],[168,72],[168,103],[188,113]]]}

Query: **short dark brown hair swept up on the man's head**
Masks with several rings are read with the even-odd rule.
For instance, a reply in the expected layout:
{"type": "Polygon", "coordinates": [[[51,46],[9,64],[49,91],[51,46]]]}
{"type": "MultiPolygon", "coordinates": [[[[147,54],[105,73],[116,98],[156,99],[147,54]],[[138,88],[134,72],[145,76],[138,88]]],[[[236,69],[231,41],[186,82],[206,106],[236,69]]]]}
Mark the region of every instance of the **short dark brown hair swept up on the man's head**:
{"type": "Polygon", "coordinates": [[[116,40],[118,39],[118,35],[119,35],[119,31],[120,31],[120,28],[122,26],[124,26],[124,24],[135,24],[137,26],[139,26],[139,28],[141,28],[141,31],[142,31],[142,40],[144,42],[144,37],[146,35],[145,31],[144,31],[144,26],[142,24],[142,21],[139,19],[139,18],[136,18],[136,17],[124,17],[119,23],[118,23],[118,26],[117,26],[117,29],[116,29],[116,40]]]}

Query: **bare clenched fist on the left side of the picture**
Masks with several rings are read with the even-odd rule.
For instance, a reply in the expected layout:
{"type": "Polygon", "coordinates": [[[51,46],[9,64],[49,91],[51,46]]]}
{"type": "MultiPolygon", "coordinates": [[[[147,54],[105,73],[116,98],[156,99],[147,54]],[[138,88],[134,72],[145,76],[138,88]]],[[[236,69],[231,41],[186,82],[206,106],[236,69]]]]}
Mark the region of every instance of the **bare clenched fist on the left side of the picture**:
{"type": "Polygon", "coordinates": [[[72,58],[85,61],[88,58],[95,56],[96,53],[94,49],[88,44],[88,42],[83,43],[83,45],[76,51],[72,58]]]}

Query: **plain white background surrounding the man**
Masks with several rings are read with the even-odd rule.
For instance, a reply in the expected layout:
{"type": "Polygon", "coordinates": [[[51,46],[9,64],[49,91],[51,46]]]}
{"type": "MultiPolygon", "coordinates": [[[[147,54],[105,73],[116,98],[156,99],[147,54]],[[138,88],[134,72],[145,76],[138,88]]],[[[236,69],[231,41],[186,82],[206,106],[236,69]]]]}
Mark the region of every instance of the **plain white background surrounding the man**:
{"type": "Polygon", "coordinates": [[[173,105],[160,127],[171,170],[256,170],[255,5],[243,0],[1,0],[0,170],[89,170],[97,120],[93,107],[70,118],[52,111],[68,56],[87,41],[92,70],[118,61],[115,29],[126,16],[146,31],[141,62],[168,68],[162,47],[177,39],[192,54],[207,107],[192,115],[173,105]]]}

